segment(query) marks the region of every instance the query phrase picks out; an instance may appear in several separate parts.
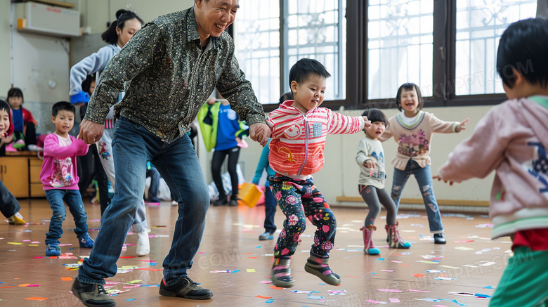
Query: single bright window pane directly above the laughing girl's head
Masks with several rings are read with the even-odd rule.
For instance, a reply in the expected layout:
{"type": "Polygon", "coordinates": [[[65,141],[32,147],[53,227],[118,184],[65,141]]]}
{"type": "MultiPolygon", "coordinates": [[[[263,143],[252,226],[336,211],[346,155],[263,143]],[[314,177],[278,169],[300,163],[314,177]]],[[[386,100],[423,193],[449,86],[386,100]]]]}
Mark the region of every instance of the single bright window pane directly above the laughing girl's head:
{"type": "Polygon", "coordinates": [[[432,83],[433,1],[370,0],[368,99],[396,95],[400,84],[432,83]]]}

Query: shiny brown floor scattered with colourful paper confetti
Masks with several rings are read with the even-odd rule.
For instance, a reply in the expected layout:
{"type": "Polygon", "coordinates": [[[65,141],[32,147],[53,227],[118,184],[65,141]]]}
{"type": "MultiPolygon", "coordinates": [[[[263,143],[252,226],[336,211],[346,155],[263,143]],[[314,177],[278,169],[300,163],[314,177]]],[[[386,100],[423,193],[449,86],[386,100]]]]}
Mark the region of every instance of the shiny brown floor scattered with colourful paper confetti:
{"type": "MultiPolygon", "coordinates": [[[[61,242],[68,245],[61,248],[65,254],[72,253],[73,259],[48,258],[44,238],[51,209],[45,199],[20,203],[21,214],[29,224],[10,226],[7,220],[0,223],[0,307],[83,306],[69,291],[77,270],[67,268],[89,255],[90,249],[79,248],[74,233],[67,231],[74,228],[72,216],[68,214],[63,224],[61,242]],[[44,300],[37,300],[41,298],[44,300]]],[[[158,294],[176,207],[162,202],[147,210],[150,255],[135,257],[137,237],[129,234],[127,250],[122,252],[127,258],[117,263],[119,271],[126,273],[107,280],[113,289],[126,291],[114,296],[117,306],[373,306],[383,302],[395,306],[488,306],[488,299],[452,292],[492,295],[510,255],[508,237],[489,239],[492,228],[487,216],[467,213],[443,213],[448,244],[439,245],[433,244],[424,211],[400,211],[400,233],[412,242],[412,247],[382,247],[386,232],[381,216],[386,211],[381,211],[379,230],[374,235],[381,255],[367,256],[358,230],[367,210],[334,208],[338,229],[330,266],[341,275],[341,285],[322,284],[318,277],[304,271],[313,241],[314,229],[309,225],[292,258],[295,286],[281,289],[267,282],[275,240],[258,240],[263,232],[264,207],[210,207],[202,245],[189,275],[211,289],[214,296],[207,301],[191,301],[158,294]],[[211,273],[218,270],[231,273],[211,273]],[[346,294],[330,295],[332,290],[346,294]]],[[[99,228],[99,206],[88,201],[86,211],[89,228],[99,228]]],[[[282,217],[278,211],[278,233],[282,217]]],[[[90,235],[95,238],[97,230],[90,235]]]]}

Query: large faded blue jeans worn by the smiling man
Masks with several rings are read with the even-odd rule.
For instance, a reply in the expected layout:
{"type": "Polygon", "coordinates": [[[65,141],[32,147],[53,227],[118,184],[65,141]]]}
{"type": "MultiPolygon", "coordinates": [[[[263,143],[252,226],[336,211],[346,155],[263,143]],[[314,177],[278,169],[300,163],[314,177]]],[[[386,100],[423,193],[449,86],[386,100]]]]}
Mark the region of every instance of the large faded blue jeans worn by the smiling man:
{"type": "Polygon", "coordinates": [[[78,280],[104,285],[104,278],[116,274],[116,261],[126,233],[143,200],[147,161],[150,161],[179,205],[171,249],[163,264],[166,284],[175,285],[193,264],[209,208],[207,184],[190,138],[184,135],[167,144],[141,124],[122,117],[116,122],[112,150],[115,197],[103,213],[99,234],[89,259],[84,260],[79,270],[78,280]]]}

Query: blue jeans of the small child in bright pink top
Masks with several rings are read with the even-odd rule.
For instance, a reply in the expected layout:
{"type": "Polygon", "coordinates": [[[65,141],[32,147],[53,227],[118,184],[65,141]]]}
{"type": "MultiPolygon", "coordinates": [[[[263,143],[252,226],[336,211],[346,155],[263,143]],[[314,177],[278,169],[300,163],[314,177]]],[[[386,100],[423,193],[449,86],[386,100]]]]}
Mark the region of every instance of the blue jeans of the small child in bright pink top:
{"type": "Polygon", "coordinates": [[[63,235],[63,221],[67,217],[65,202],[69,207],[70,214],[74,218],[74,233],[79,237],[88,232],[88,216],[84,203],[81,201],[79,190],[46,190],[46,198],[49,207],[53,210],[49,222],[49,231],[46,233],[46,244],[59,244],[59,239],[63,235]],[[63,202],[63,200],[65,202],[63,202]]]}

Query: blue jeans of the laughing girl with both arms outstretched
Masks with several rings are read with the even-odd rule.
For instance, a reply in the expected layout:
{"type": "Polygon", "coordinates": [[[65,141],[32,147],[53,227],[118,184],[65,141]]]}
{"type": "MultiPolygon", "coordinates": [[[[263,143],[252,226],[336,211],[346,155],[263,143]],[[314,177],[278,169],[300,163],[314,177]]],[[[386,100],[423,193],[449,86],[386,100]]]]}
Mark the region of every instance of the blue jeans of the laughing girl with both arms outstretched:
{"type": "Polygon", "coordinates": [[[424,207],[426,207],[428,223],[430,224],[430,232],[443,233],[440,209],[438,207],[436,197],[433,194],[430,165],[421,167],[417,162],[415,162],[415,160],[409,159],[404,171],[394,168],[392,199],[396,203],[396,213],[400,207],[401,193],[403,192],[403,188],[405,188],[407,179],[409,179],[409,176],[411,175],[414,175],[415,179],[417,179],[417,183],[419,183],[419,189],[422,193],[422,200],[424,200],[424,207]]]}

